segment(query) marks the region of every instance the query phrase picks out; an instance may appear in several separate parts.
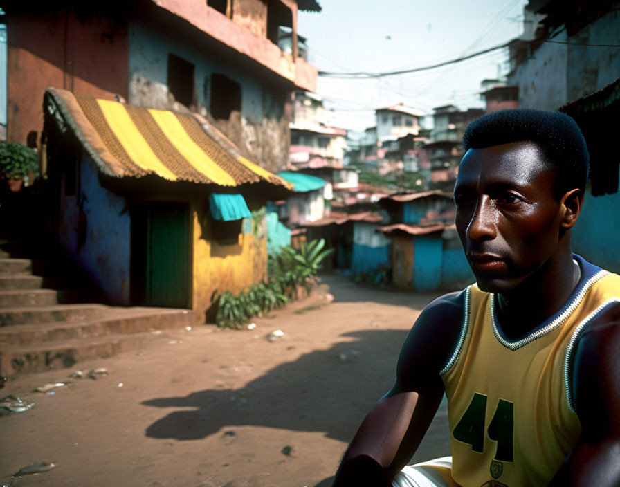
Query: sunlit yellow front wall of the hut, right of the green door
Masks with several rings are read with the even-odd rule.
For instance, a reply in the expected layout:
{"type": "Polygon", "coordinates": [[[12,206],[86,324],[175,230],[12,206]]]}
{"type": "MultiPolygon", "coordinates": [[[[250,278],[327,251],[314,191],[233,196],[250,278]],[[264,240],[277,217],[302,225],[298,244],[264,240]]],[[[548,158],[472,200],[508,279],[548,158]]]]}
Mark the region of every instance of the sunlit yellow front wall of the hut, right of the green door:
{"type": "Polygon", "coordinates": [[[238,294],[246,286],[256,284],[266,277],[266,221],[263,218],[257,228],[251,228],[249,219],[241,221],[238,223],[237,240],[222,243],[215,238],[218,223],[211,221],[206,205],[192,205],[192,220],[194,321],[204,323],[208,318],[208,322],[213,322],[215,317],[211,313],[206,316],[213,291],[238,294]]]}

